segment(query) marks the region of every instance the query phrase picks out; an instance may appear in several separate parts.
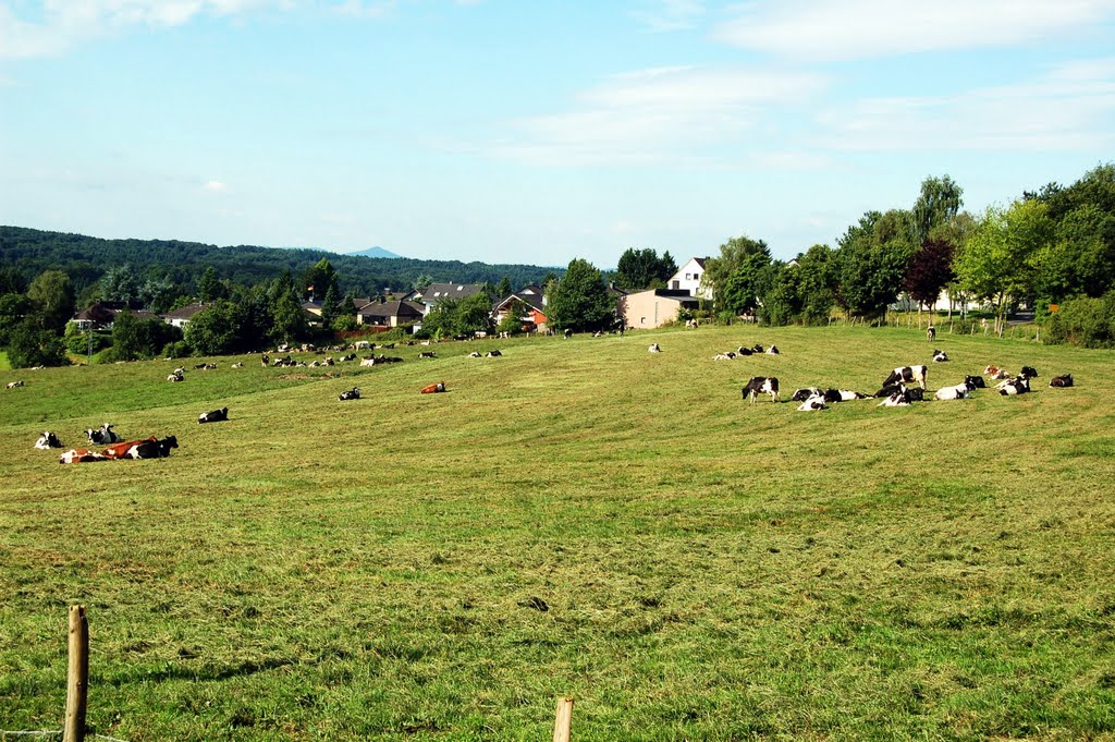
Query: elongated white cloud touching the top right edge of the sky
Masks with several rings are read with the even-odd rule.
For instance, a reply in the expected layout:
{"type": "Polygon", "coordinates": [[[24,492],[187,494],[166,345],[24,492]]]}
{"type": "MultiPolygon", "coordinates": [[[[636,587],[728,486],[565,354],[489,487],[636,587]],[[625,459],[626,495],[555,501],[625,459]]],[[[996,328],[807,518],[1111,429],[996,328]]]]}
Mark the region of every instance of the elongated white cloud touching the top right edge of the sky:
{"type": "Polygon", "coordinates": [[[1113,13],[1115,0],[779,0],[743,6],[715,36],[779,56],[846,60],[1026,44],[1113,13]]]}

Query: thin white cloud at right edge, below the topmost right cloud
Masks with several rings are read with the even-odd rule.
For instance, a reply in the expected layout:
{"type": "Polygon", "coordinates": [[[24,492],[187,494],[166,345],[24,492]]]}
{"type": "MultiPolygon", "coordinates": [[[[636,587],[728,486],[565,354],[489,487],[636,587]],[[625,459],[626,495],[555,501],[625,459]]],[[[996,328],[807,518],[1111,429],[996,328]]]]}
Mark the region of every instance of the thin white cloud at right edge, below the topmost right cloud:
{"type": "Polygon", "coordinates": [[[1115,59],[950,96],[867,98],[818,116],[838,150],[1104,150],[1115,144],[1115,59]]]}

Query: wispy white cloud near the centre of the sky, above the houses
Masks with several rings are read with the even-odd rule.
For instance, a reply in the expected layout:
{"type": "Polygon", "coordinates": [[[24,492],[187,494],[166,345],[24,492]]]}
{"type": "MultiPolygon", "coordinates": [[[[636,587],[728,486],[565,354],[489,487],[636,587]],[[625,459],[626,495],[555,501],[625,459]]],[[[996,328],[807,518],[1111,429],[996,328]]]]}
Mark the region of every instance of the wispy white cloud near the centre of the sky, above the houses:
{"type": "Polygon", "coordinates": [[[812,73],[673,67],[617,75],[566,113],[515,122],[498,156],[542,164],[652,163],[739,141],[769,106],[803,103],[812,73]]]}

